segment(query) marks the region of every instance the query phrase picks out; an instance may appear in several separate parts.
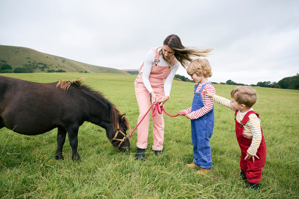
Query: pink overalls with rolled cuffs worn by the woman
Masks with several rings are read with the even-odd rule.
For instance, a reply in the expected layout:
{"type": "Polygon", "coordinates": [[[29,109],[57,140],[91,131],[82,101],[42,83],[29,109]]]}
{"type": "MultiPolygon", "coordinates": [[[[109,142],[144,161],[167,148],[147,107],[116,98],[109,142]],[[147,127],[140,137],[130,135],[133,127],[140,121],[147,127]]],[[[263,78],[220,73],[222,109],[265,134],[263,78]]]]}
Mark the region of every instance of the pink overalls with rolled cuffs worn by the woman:
{"type": "MultiPolygon", "coordinates": [[[[155,57],[155,63],[152,66],[152,70],[149,74],[149,82],[152,86],[153,91],[156,94],[156,98],[160,98],[164,96],[164,78],[166,78],[170,72],[170,67],[168,66],[159,66],[159,52],[155,48],[156,57],[155,57]]],[[[171,64],[173,65],[176,61],[176,58],[173,57],[171,64]]],[[[144,64],[144,63],[143,63],[144,64]]],[[[143,64],[141,65],[139,69],[139,75],[137,76],[135,80],[135,94],[139,106],[139,121],[143,118],[145,113],[148,111],[151,101],[150,101],[150,93],[146,89],[146,87],[143,84],[142,81],[142,72],[140,72],[141,68],[143,67],[143,64]]],[[[137,144],[136,146],[140,149],[147,148],[147,137],[149,132],[149,119],[150,119],[150,113],[144,117],[143,121],[139,124],[137,129],[137,144]]],[[[152,146],[152,150],[162,150],[163,149],[163,141],[164,141],[164,118],[163,114],[156,114],[154,117],[152,117],[152,123],[153,123],[153,138],[154,143],[152,146]]]]}

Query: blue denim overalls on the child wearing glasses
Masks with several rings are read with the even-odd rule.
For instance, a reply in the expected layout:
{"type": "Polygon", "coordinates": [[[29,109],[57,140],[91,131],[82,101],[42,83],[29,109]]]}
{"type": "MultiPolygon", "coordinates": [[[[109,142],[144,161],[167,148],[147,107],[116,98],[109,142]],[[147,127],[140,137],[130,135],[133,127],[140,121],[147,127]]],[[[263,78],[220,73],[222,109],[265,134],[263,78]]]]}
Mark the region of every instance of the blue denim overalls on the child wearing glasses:
{"type": "MultiPolygon", "coordinates": [[[[199,91],[202,91],[207,82],[202,85],[199,91]]],[[[199,84],[194,86],[194,91],[199,84]]],[[[192,101],[192,111],[196,111],[204,106],[202,102],[202,95],[199,92],[194,92],[192,101]]],[[[194,160],[193,162],[203,169],[210,169],[213,166],[211,159],[211,146],[209,144],[210,138],[213,134],[214,128],[214,106],[213,109],[200,118],[191,120],[191,138],[193,143],[194,160]]]]}

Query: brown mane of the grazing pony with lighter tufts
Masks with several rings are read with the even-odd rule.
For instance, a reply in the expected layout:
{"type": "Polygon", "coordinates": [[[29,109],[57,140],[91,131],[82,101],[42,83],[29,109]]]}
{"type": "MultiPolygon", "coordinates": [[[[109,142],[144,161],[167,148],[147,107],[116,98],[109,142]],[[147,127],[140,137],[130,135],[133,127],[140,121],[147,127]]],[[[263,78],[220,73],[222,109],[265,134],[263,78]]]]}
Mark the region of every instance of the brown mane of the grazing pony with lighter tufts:
{"type": "MultiPolygon", "coordinates": [[[[60,80],[57,84],[56,87],[60,87],[62,90],[67,91],[68,88],[71,85],[78,85],[79,87],[81,87],[83,90],[85,90],[86,92],[91,93],[92,95],[94,95],[96,98],[100,99],[101,101],[103,101],[104,103],[107,104],[107,106],[110,108],[110,120],[111,120],[111,124],[113,129],[116,131],[117,130],[117,124],[118,124],[118,119],[119,119],[119,115],[121,115],[122,113],[118,110],[118,108],[116,108],[116,106],[111,103],[108,99],[106,99],[104,97],[104,95],[99,92],[94,90],[94,88],[91,88],[90,86],[83,84],[83,80],[84,78],[79,77],[73,81],[68,81],[68,80],[60,80]]],[[[127,118],[124,118],[124,124],[126,125],[127,129],[130,129],[130,124],[127,118]]]]}

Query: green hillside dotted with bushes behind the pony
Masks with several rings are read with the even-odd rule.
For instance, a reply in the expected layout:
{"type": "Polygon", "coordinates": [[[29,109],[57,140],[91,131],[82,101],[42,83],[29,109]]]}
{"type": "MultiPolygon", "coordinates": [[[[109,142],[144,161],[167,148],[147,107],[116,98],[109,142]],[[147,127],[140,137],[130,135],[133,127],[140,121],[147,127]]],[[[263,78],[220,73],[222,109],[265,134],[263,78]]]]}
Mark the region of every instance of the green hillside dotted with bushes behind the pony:
{"type": "Polygon", "coordinates": [[[30,48],[0,45],[0,64],[4,63],[9,64],[13,69],[32,67],[34,72],[61,69],[66,72],[129,74],[123,70],[85,64],[56,55],[41,53],[30,48]]]}

